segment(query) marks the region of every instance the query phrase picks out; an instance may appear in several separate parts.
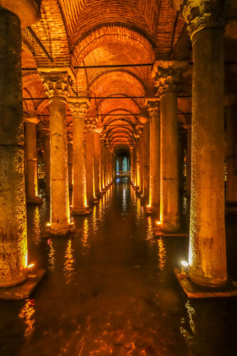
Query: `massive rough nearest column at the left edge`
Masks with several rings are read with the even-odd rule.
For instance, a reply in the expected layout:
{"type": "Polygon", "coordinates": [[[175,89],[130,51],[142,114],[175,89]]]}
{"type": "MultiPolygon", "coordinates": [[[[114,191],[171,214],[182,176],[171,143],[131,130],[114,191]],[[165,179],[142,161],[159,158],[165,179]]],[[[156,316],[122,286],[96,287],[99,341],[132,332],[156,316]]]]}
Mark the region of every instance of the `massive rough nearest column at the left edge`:
{"type": "Polygon", "coordinates": [[[27,276],[21,24],[36,21],[32,4],[27,5],[28,23],[14,14],[14,2],[6,2],[10,11],[0,9],[0,287],[22,283],[27,276]]]}

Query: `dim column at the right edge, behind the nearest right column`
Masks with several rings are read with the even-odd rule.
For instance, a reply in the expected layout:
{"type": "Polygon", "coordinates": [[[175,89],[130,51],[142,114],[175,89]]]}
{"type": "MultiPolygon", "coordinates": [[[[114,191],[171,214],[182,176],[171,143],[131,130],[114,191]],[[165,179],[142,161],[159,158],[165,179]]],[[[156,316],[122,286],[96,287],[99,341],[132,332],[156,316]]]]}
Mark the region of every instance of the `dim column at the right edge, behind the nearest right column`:
{"type": "Polygon", "coordinates": [[[237,212],[237,105],[226,108],[226,202],[228,210],[237,212]]]}

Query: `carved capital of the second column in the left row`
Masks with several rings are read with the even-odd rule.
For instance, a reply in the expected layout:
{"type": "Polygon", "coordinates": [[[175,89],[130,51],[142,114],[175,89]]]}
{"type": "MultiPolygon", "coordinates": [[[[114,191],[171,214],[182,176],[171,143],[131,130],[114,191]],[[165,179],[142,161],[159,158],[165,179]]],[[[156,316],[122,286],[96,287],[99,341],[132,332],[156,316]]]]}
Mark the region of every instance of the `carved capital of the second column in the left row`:
{"type": "Polygon", "coordinates": [[[63,98],[67,100],[70,90],[73,87],[73,80],[68,75],[68,70],[47,70],[46,68],[39,68],[41,73],[41,80],[48,98],[63,98]]]}

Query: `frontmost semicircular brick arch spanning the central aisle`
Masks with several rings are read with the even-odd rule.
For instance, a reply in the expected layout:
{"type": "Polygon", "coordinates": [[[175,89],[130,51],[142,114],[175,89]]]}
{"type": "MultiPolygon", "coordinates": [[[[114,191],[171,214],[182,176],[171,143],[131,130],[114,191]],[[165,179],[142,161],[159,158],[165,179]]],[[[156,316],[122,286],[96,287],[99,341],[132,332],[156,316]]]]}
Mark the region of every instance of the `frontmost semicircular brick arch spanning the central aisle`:
{"type": "Polygon", "coordinates": [[[79,38],[72,50],[73,66],[80,66],[95,48],[121,44],[132,46],[144,61],[154,61],[154,50],[148,36],[127,23],[101,23],[79,38]]]}

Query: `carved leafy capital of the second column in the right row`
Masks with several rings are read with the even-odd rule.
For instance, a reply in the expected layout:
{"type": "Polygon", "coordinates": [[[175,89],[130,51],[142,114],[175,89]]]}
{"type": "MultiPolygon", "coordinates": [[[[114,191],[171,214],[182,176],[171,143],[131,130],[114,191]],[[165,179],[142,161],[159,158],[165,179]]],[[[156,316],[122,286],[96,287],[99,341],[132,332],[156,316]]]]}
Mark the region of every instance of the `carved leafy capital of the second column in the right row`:
{"type": "Polygon", "coordinates": [[[155,61],[152,77],[157,93],[162,95],[167,91],[178,91],[182,72],[187,65],[186,61],[155,61]]]}

